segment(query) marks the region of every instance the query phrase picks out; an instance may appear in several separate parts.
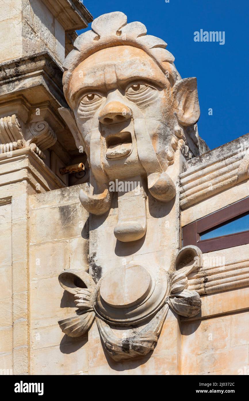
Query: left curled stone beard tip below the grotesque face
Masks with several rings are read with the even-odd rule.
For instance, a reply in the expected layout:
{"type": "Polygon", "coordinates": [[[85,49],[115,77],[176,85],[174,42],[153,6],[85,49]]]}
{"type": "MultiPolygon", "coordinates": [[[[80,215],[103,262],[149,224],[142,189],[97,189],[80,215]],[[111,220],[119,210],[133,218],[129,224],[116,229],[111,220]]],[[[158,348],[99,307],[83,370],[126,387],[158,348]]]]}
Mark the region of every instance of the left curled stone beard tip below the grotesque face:
{"type": "Polygon", "coordinates": [[[112,203],[112,195],[106,186],[102,186],[102,192],[99,194],[87,194],[83,189],[80,190],[80,203],[93,215],[103,215],[106,213],[112,203]]]}

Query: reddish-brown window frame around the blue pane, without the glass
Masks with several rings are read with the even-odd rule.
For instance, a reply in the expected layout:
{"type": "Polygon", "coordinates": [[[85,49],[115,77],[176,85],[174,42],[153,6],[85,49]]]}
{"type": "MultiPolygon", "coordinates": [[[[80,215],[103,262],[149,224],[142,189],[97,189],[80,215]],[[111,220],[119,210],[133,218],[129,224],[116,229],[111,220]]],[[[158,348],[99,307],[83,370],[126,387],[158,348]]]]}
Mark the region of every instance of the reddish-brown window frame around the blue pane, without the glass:
{"type": "Polygon", "coordinates": [[[240,233],[223,235],[221,237],[200,239],[200,234],[219,227],[224,223],[242,217],[249,212],[249,196],[232,205],[226,206],[210,215],[202,217],[182,228],[183,247],[195,245],[202,252],[218,251],[220,249],[237,247],[249,243],[249,230],[240,233]]]}

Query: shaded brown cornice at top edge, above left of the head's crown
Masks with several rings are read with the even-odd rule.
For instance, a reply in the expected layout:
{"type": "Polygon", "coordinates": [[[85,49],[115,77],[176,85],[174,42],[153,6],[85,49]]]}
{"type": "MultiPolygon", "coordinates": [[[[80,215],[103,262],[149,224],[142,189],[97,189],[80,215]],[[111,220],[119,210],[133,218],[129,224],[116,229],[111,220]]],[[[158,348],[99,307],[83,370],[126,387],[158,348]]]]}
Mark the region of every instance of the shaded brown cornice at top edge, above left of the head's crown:
{"type": "Polygon", "coordinates": [[[86,28],[92,14],[79,0],[42,0],[65,30],[86,28]]]}

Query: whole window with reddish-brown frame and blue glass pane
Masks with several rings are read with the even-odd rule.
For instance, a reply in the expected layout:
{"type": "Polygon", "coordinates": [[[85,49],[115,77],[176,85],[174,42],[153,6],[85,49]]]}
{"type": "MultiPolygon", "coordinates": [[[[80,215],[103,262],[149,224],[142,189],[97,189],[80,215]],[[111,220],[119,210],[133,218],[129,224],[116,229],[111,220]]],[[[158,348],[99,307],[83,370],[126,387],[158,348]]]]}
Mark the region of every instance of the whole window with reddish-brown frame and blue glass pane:
{"type": "Polygon", "coordinates": [[[249,197],[183,227],[183,246],[202,252],[249,243],[249,197]]]}

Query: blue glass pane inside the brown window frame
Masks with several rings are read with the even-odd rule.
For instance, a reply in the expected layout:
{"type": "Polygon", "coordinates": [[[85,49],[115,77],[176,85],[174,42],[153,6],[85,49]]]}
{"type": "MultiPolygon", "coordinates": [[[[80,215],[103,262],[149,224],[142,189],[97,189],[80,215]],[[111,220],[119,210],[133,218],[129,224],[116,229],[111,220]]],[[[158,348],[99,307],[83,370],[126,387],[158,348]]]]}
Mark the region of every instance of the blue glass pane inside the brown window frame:
{"type": "Polygon", "coordinates": [[[200,239],[210,239],[215,237],[222,237],[223,235],[241,233],[249,230],[249,213],[247,215],[238,217],[235,220],[229,221],[219,227],[213,228],[206,233],[200,234],[200,239]]]}

